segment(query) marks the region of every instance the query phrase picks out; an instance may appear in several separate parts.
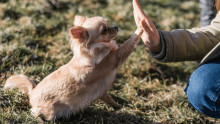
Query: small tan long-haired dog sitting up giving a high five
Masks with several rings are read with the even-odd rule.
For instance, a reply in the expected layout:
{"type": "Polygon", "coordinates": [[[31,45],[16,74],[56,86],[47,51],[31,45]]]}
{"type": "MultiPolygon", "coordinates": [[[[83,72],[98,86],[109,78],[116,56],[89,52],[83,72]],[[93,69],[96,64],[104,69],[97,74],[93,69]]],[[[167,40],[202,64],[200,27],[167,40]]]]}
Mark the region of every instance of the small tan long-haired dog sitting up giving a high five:
{"type": "Polygon", "coordinates": [[[76,16],[70,29],[73,58],[45,77],[37,86],[24,75],[8,78],[5,89],[18,88],[27,92],[34,116],[46,120],[69,117],[100,98],[105,103],[121,108],[107,93],[122,63],[132,53],[142,29],[138,28],[121,47],[113,39],[117,26],[108,26],[101,17],[76,16]],[[35,87],[36,86],[36,87],[35,87]]]}

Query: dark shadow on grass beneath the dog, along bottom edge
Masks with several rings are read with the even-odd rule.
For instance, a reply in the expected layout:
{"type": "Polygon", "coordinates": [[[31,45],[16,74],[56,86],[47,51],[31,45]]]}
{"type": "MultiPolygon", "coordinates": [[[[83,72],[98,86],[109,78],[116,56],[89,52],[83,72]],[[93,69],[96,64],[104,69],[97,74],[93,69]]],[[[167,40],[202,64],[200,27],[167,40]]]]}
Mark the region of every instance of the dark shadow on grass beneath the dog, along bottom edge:
{"type": "Polygon", "coordinates": [[[57,119],[55,122],[68,124],[160,124],[148,122],[141,117],[128,113],[121,114],[117,111],[96,110],[93,108],[87,108],[83,112],[72,115],[69,119],[57,119]]]}

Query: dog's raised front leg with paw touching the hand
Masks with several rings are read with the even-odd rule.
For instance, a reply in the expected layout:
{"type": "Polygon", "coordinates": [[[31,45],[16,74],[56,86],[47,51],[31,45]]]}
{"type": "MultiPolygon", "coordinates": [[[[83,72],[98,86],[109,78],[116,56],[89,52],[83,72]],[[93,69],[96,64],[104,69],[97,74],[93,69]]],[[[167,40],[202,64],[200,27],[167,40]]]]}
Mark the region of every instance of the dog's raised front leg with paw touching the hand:
{"type": "Polygon", "coordinates": [[[142,28],[138,28],[135,33],[121,47],[117,49],[116,53],[118,56],[118,67],[120,67],[132,53],[141,37],[142,32],[142,28]]]}

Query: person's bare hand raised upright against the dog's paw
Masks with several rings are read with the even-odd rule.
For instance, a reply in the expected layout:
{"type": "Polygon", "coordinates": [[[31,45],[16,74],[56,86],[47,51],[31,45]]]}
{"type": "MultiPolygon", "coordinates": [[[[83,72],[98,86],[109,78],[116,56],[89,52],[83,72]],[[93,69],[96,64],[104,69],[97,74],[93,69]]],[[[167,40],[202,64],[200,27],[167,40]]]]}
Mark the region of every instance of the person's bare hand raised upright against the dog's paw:
{"type": "Polygon", "coordinates": [[[150,51],[160,52],[162,48],[160,43],[160,35],[157,29],[155,28],[153,22],[141,9],[138,0],[133,0],[133,8],[136,25],[138,27],[139,25],[143,27],[143,33],[141,38],[144,44],[149,48],[150,51]]]}

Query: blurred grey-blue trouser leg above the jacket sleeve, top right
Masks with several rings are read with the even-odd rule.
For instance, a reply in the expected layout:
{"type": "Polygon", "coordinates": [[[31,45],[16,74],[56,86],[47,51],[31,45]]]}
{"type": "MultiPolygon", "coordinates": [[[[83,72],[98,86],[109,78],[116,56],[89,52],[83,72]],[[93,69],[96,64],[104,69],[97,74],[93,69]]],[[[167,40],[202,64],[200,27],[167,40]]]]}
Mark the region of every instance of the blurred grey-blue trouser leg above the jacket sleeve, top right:
{"type": "Polygon", "coordinates": [[[199,0],[201,8],[200,27],[210,25],[215,17],[215,0],[199,0]]]}

